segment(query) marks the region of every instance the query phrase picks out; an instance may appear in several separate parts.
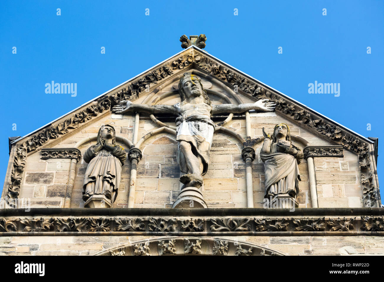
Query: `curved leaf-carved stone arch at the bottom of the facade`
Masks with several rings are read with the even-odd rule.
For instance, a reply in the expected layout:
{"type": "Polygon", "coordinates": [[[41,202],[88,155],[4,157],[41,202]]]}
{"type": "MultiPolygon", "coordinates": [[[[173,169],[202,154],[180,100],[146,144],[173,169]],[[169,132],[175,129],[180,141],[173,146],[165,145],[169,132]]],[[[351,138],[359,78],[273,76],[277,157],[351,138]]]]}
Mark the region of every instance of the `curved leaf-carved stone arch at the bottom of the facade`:
{"type": "Polygon", "coordinates": [[[100,251],[95,256],[284,256],[279,252],[249,242],[222,238],[170,237],[145,241],[100,251]]]}

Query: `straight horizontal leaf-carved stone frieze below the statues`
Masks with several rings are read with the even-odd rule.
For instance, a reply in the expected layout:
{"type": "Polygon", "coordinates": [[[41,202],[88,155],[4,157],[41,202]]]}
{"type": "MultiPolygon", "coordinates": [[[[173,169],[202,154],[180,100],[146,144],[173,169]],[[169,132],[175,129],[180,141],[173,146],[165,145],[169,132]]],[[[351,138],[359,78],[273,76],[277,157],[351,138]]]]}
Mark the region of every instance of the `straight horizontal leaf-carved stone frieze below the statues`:
{"type": "Polygon", "coordinates": [[[0,236],[383,235],[383,216],[359,217],[0,217],[0,236]]]}

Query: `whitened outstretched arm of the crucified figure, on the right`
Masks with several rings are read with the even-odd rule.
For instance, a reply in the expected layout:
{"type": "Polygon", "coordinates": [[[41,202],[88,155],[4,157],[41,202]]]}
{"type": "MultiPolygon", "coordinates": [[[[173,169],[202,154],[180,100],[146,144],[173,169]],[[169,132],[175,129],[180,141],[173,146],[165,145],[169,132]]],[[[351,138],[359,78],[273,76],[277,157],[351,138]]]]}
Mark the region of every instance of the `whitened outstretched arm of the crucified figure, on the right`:
{"type": "Polygon", "coordinates": [[[221,104],[212,106],[212,114],[233,113],[241,114],[247,110],[256,110],[257,112],[273,112],[275,110],[275,102],[269,102],[268,99],[261,99],[255,103],[249,104],[221,104]]]}

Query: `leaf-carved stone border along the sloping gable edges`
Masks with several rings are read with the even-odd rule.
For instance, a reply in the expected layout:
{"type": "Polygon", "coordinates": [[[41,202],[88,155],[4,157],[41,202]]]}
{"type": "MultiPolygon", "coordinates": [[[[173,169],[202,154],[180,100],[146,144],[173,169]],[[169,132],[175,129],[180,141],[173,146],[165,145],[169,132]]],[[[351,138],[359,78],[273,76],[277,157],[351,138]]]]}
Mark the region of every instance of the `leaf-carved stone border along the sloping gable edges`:
{"type": "Polygon", "coordinates": [[[11,141],[10,144],[16,144],[16,148],[11,177],[12,183],[8,187],[8,197],[14,198],[18,195],[27,154],[48,146],[59,137],[63,137],[85,125],[89,120],[109,112],[110,108],[118,104],[121,99],[135,100],[148,91],[153,91],[164,81],[168,81],[191,68],[207,73],[229,87],[238,86],[238,91],[241,94],[254,100],[268,98],[275,101],[277,104],[276,112],[280,115],[296,124],[307,127],[312,132],[331,140],[335,144],[356,152],[359,155],[362,185],[365,189],[364,202],[369,202],[368,204],[371,206],[371,201],[376,203],[376,200],[379,199],[374,189],[377,185],[373,185],[372,182],[373,171],[369,154],[369,152],[374,151],[375,142],[373,140],[367,139],[319,114],[194,45],[101,94],[50,124],[11,141]]]}

